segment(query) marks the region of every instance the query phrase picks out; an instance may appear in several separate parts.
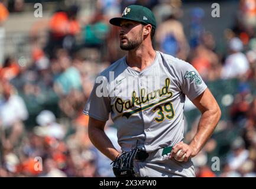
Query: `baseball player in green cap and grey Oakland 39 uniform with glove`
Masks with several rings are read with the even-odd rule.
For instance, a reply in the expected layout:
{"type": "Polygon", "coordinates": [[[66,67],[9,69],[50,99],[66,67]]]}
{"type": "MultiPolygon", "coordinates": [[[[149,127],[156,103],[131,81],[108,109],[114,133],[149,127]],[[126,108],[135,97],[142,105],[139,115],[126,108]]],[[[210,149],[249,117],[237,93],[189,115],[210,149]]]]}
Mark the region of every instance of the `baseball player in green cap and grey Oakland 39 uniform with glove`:
{"type": "Polygon", "coordinates": [[[90,140],[112,159],[116,177],[195,177],[191,158],[220,119],[218,103],[192,65],[153,49],[150,9],[129,5],[109,22],[120,27],[120,48],[128,53],[96,79],[83,110],[90,140]],[[183,142],[185,96],[202,112],[190,144],[183,142]],[[109,113],[121,154],[104,132],[109,113]]]}

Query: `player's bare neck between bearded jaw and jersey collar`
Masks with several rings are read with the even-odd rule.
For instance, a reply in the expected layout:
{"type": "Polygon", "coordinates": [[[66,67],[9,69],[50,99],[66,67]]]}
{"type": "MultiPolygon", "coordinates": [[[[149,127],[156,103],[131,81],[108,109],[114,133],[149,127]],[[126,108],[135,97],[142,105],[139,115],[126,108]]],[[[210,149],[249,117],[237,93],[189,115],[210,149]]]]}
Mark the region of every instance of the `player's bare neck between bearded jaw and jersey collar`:
{"type": "Polygon", "coordinates": [[[155,60],[156,52],[151,46],[142,46],[135,50],[128,51],[127,64],[135,70],[142,71],[145,67],[150,66],[155,60]]]}

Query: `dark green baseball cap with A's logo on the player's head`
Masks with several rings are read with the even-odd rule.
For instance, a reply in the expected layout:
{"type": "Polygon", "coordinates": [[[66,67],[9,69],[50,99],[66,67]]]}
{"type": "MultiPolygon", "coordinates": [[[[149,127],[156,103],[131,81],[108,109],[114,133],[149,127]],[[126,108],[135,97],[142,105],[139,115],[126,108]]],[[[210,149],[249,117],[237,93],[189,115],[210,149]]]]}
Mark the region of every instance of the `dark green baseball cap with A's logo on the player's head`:
{"type": "Polygon", "coordinates": [[[153,28],[157,27],[155,16],[153,12],[145,6],[141,5],[129,5],[124,9],[122,17],[112,18],[109,20],[110,24],[120,26],[121,21],[128,19],[131,21],[137,21],[144,24],[151,24],[153,28]]]}

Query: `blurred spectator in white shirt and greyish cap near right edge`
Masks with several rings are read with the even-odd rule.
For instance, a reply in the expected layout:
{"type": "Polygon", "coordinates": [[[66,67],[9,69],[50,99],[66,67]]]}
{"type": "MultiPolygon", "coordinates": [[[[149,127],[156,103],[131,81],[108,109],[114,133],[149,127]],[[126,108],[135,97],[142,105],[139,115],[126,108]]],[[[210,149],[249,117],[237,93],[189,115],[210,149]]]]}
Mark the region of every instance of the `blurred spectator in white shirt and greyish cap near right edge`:
{"type": "Polygon", "coordinates": [[[222,79],[231,79],[247,73],[249,63],[247,57],[241,53],[243,48],[242,41],[239,38],[235,37],[229,41],[230,54],[226,57],[221,71],[222,79]]]}

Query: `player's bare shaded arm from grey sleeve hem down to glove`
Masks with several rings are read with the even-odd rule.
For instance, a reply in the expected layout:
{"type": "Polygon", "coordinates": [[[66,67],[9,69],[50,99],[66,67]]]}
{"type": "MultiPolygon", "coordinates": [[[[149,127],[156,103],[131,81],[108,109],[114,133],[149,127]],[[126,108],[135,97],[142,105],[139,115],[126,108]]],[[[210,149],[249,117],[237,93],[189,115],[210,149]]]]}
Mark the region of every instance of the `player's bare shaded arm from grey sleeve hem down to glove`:
{"type": "Polygon", "coordinates": [[[90,117],[88,134],[92,144],[95,145],[102,154],[114,161],[119,155],[119,152],[115,149],[108,136],[106,136],[104,132],[105,124],[106,122],[90,117]]]}

